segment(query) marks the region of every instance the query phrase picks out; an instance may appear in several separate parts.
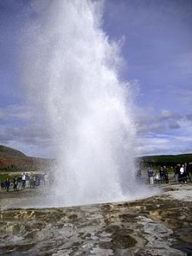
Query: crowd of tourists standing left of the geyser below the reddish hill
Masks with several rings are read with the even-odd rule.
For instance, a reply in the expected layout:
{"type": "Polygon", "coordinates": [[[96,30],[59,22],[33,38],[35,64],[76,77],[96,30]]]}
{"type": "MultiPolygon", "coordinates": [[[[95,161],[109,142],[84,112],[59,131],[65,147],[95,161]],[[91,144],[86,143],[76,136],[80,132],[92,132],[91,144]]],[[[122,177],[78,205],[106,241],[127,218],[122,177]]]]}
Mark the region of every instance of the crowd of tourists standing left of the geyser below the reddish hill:
{"type": "Polygon", "coordinates": [[[45,174],[33,174],[23,172],[13,178],[6,178],[0,182],[0,189],[9,192],[10,189],[19,191],[21,189],[35,189],[39,185],[45,185],[45,174]]]}

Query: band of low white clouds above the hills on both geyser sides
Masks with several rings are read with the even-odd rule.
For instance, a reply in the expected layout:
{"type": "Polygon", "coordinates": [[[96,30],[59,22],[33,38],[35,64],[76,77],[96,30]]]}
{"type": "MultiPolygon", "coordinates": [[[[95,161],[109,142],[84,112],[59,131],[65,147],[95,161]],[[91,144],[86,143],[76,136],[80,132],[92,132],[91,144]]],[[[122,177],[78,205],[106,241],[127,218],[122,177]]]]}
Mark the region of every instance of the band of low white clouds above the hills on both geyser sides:
{"type": "MultiPolygon", "coordinates": [[[[49,157],[53,154],[49,127],[42,125],[44,119],[40,113],[34,113],[29,107],[9,106],[0,108],[0,119],[0,144],[28,155],[49,157]]],[[[138,155],[192,151],[191,114],[180,116],[163,109],[155,115],[153,108],[137,109],[137,131],[138,155]]]]}

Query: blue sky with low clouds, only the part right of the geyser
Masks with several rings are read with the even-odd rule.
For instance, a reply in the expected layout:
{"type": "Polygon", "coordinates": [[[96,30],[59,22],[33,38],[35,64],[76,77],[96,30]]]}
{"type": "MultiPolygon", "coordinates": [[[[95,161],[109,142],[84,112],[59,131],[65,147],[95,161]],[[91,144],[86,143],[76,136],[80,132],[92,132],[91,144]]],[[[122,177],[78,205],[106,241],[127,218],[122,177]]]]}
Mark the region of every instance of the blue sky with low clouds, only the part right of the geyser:
{"type": "Polygon", "coordinates": [[[125,40],[123,77],[137,80],[141,154],[192,152],[192,1],[107,1],[104,29],[125,40]]]}

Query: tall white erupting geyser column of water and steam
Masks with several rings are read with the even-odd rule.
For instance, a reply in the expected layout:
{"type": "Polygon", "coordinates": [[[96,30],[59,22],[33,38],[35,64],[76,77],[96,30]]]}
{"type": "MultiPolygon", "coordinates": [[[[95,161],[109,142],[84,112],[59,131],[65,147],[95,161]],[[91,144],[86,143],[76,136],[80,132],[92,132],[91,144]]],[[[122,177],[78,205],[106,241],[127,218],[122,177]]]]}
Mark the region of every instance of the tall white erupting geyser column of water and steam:
{"type": "Polygon", "coordinates": [[[97,1],[36,1],[26,25],[22,84],[55,151],[55,206],[143,196],[131,84],[119,81],[118,45],[101,14],[97,1]]]}

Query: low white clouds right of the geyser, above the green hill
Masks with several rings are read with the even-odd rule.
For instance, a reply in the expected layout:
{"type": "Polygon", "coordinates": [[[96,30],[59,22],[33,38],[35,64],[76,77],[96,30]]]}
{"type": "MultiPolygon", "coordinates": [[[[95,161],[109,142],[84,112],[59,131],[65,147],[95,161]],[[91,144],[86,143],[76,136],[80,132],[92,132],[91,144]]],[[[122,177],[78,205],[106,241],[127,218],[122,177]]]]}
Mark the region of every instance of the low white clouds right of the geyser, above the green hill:
{"type": "Polygon", "coordinates": [[[137,153],[148,155],[192,152],[190,117],[166,109],[160,115],[143,113],[138,125],[137,153]]]}

